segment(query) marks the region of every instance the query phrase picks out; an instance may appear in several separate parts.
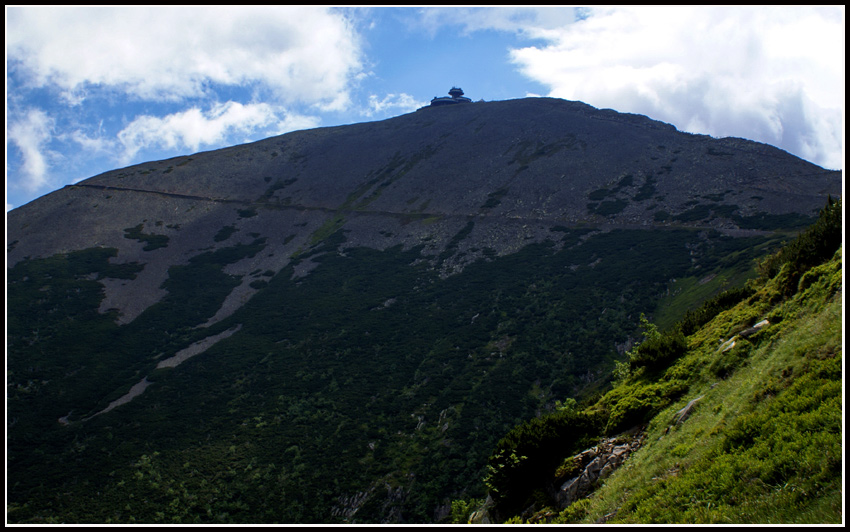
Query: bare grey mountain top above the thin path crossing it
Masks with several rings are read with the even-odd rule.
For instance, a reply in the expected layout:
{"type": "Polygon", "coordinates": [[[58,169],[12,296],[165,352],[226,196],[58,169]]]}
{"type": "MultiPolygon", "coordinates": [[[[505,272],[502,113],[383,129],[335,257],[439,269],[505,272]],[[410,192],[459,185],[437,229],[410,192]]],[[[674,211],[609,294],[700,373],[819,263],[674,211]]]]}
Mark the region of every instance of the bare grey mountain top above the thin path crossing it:
{"type": "MultiPolygon", "coordinates": [[[[704,193],[714,194],[716,198],[743,195],[742,179],[748,179],[746,188],[751,195],[777,189],[799,195],[797,201],[802,208],[786,203],[771,206],[772,212],[803,209],[816,212],[826,194],[840,193],[840,187],[835,187],[834,172],[805,163],[776,148],[751,141],[679,133],[673,126],[640,115],[623,116],[614,111],[594,110],[579,102],[551,99],[426,108],[380,122],[293,132],[212,152],[141,163],[94,176],[77,185],[124,186],[181,198],[242,200],[269,206],[297,205],[361,212],[401,210],[410,214],[415,214],[423,204],[431,214],[438,215],[479,215],[482,211],[499,215],[531,214],[523,208],[525,203],[536,205],[534,214],[538,217],[563,222],[608,221],[623,218],[624,210],[635,218],[637,211],[646,210],[646,202],[653,195],[665,192],[655,188],[665,184],[670,188],[671,182],[683,179],[698,181],[704,193]],[[555,116],[554,110],[560,114],[555,116]],[[632,136],[636,131],[673,135],[671,138],[678,139],[681,145],[668,149],[658,144],[661,141],[648,139],[641,140],[638,145],[634,140],[618,144],[619,139],[611,141],[614,135],[608,129],[593,130],[595,123],[625,125],[632,136]],[[408,136],[400,132],[407,132],[408,136]],[[592,138],[588,136],[591,134],[592,138]],[[497,149],[490,145],[493,144],[491,138],[500,139],[497,149]],[[582,153],[587,151],[590,140],[594,144],[591,146],[594,155],[592,171],[588,172],[581,167],[590,164],[586,162],[587,155],[582,153]],[[708,147],[704,147],[706,142],[708,147]],[[694,144],[702,146],[702,153],[687,153],[688,145],[694,144]],[[386,147],[390,145],[394,147],[386,147]],[[634,160],[623,161],[626,158],[623,153],[612,155],[612,146],[630,151],[629,158],[634,157],[634,160]],[[647,154],[648,148],[655,153],[647,154]],[[724,149],[727,151],[722,151],[724,149]],[[402,150],[410,155],[399,155],[402,150]],[[666,153],[674,150],[679,153],[666,153]],[[731,169],[727,164],[726,160],[735,158],[736,154],[744,157],[764,150],[768,154],[766,160],[779,159],[787,168],[771,168],[762,162],[760,166],[768,168],[759,168],[758,173],[753,173],[753,168],[745,167],[752,161],[736,160],[731,169]],[[666,160],[661,160],[662,154],[666,160]],[[706,179],[694,174],[695,163],[680,160],[686,156],[705,158],[706,154],[714,154],[708,159],[719,165],[717,175],[706,179]],[[432,161],[433,166],[421,168],[425,165],[419,163],[431,158],[440,160],[432,161]],[[620,162],[612,168],[608,159],[614,158],[620,162]],[[209,162],[204,162],[207,160],[209,162]],[[198,166],[202,168],[196,168],[198,166]],[[683,168],[679,170],[678,166],[683,168]],[[533,179],[523,179],[529,168],[534,172],[533,179]],[[299,177],[302,173],[310,176],[309,183],[299,177]],[[671,173],[673,178],[665,177],[671,173]],[[437,191],[440,194],[429,189],[429,175],[439,183],[437,191]],[[630,183],[620,185],[627,176],[630,176],[627,179],[630,183]],[[778,182],[782,176],[796,183],[778,182]],[[133,182],[131,187],[124,185],[128,179],[133,182]],[[406,184],[408,181],[410,183],[406,184]],[[729,190],[729,187],[740,190],[729,190]],[[509,192],[508,199],[503,202],[500,198],[509,192]],[[506,208],[508,200],[513,200],[510,208],[506,208]],[[622,204],[623,201],[627,204],[622,204]],[[586,204],[594,202],[597,211],[603,204],[608,210],[589,211],[586,204]],[[387,204],[394,208],[386,208],[387,204]],[[558,208],[547,210],[547,204],[558,208]],[[404,207],[399,209],[401,206],[404,207]]],[[[622,138],[624,133],[616,136],[622,138]]],[[[74,186],[70,185],[66,192],[74,186]]],[[[677,187],[683,188],[681,183],[677,187]]],[[[682,195],[683,192],[692,191],[674,188],[667,195],[682,195]]],[[[693,200],[691,196],[685,197],[686,201],[693,200]]],[[[716,203],[730,203],[724,200],[716,203]]],[[[749,205],[737,204],[736,207],[742,216],[747,216],[758,212],[759,203],[769,201],[770,198],[756,201],[747,198],[749,205]]],[[[671,198],[665,198],[672,215],[687,210],[683,205],[685,201],[681,203],[675,205],[671,198]]],[[[33,210],[31,206],[14,209],[10,214],[13,220],[21,209],[33,210]]],[[[647,221],[647,216],[644,213],[636,219],[647,221]]]]}

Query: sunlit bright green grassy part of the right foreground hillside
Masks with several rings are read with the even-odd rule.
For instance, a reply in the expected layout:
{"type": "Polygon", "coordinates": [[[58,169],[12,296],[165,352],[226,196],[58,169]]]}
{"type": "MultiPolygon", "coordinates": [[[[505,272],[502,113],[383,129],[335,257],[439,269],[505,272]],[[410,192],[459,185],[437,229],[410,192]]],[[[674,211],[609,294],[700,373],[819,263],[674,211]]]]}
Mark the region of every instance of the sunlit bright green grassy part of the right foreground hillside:
{"type": "Polygon", "coordinates": [[[688,392],[652,419],[628,465],[563,521],[840,523],[840,257],[811,275],[817,282],[791,300],[772,306],[768,283],[692,335],[689,353],[663,377],[684,376],[688,392]],[[727,352],[737,367],[719,378],[719,343],[761,317],[779,323],[727,352]]]}

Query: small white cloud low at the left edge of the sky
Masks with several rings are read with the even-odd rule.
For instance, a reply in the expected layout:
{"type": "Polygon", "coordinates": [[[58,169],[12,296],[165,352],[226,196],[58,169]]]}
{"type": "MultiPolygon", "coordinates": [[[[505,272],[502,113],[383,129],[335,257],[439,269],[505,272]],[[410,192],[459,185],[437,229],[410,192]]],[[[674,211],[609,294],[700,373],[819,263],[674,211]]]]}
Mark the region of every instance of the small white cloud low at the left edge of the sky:
{"type": "Polygon", "coordinates": [[[16,184],[28,191],[48,184],[47,143],[52,137],[53,120],[41,109],[29,109],[8,126],[8,140],[21,154],[23,180],[16,184]]]}

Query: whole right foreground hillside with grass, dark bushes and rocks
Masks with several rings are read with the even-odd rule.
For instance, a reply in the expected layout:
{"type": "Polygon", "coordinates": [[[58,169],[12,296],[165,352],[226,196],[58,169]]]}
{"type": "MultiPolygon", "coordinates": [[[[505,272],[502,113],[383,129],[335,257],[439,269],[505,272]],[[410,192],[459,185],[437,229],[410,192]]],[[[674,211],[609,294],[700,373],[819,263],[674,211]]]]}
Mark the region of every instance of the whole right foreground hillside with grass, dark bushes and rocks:
{"type": "Polygon", "coordinates": [[[836,203],[745,289],[644,322],[595,404],[514,429],[455,519],[842,523],[842,270],[836,203]]]}

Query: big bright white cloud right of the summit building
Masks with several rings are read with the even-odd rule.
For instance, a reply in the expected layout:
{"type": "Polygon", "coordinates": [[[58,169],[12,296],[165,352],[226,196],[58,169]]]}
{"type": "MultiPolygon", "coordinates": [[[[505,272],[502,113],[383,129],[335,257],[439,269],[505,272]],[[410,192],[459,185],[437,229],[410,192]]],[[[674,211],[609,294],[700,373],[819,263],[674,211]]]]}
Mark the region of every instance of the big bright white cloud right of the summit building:
{"type": "Polygon", "coordinates": [[[529,9],[426,11],[424,19],[542,40],[511,59],[549,96],[842,166],[843,8],[593,8],[575,21],[529,9]]]}

